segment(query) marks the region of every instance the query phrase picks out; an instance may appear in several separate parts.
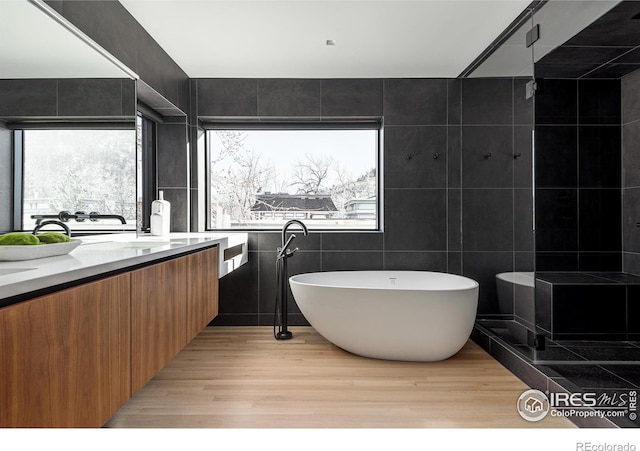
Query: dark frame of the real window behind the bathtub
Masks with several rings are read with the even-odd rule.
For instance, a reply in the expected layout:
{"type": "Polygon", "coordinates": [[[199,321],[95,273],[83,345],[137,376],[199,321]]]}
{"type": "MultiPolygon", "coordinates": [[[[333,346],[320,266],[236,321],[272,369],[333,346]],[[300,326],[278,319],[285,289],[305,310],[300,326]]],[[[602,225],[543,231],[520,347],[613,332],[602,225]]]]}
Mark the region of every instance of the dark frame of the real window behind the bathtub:
{"type": "Polygon", "coordinates": [[[277,232],[281,228],[273,227],[232,227],[215,228],[211,225],[211,152],[209,132],[216,130],[375,130],[376,133],[376,224],[372,228],[321,228],[319,232],[328,233],[382,233],[384,231],[384,180],[383,180],[383,142],[384,127],[381,117],[362,117],[332,120],[211,120],[201,121],[200,127],[205,131],[205,230],[208,232],[277,232]]]}

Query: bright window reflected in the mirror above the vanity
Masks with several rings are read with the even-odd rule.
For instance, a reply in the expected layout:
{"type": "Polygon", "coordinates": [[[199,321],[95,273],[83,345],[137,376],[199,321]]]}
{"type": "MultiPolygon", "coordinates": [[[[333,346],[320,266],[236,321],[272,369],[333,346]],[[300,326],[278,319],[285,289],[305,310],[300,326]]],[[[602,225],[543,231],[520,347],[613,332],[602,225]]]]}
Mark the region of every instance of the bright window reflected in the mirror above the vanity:
{"type": "Polygon", "coordinates": [[[36,130],[16,132],[22,149],[22,228],[32,216],[61,211],[123,216],[70,221],[77,230],[136,228],[135,130],[36,130]]]}

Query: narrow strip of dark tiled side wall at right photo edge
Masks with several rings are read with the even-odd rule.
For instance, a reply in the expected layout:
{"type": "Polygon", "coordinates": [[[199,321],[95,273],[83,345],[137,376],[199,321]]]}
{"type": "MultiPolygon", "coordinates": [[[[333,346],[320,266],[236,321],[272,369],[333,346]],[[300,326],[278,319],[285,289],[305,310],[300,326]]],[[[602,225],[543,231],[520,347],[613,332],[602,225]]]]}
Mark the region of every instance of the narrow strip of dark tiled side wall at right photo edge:
{"type": "Polygon", "coordinates": [[[622,79],[622,168],[623,267],[640,275],[640,70],[622,79]]]}

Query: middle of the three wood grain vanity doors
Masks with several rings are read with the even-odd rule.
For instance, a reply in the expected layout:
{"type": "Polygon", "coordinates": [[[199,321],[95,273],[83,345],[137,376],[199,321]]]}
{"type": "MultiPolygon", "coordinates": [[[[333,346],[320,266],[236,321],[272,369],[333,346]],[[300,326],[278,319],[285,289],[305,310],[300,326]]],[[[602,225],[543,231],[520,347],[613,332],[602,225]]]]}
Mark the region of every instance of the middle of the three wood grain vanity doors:
{"type": "Polygon", "coordinates": [[[131,272],[131,393],[187,344],[187,257],[131,272]]]}

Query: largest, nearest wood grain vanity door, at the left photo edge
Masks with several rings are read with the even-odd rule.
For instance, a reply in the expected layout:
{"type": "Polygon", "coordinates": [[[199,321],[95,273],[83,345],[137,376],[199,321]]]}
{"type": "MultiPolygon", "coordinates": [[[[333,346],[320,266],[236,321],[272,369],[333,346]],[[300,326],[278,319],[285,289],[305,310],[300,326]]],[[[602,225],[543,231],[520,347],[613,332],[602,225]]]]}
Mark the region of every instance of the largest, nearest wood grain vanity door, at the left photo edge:
{"type": "Polygon", "coordinates": [[[100,427],[129,399],[130,276],[0,309],[0,426],[100,427]]]}

